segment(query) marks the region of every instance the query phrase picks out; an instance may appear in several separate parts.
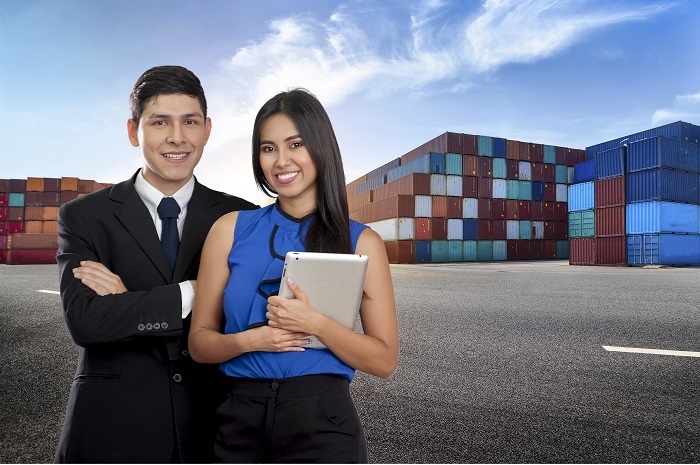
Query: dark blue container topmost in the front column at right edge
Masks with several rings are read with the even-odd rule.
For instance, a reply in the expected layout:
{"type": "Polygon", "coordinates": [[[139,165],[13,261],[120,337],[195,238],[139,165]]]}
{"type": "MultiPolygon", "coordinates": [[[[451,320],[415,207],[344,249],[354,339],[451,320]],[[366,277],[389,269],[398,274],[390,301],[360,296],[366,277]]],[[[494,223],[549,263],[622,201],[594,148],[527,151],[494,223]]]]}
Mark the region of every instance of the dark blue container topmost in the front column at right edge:
{"type": "Polygon", "coordinates": [[[700,145],[658,136],[629,146],[627,172],[650,168],[672,168],[700,172],[700,145]]]}

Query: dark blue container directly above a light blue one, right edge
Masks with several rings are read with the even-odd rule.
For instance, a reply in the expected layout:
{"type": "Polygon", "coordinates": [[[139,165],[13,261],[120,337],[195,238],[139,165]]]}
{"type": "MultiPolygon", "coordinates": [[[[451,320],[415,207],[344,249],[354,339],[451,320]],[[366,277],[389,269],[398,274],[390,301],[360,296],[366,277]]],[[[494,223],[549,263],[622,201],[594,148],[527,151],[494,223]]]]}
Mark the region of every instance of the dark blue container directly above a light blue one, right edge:
{"type": "Polygon", "coordinates": [[[627,203],[647,200],[700,203],[700,175],[666,168],[629,173],[625,179],[627,203]]]}

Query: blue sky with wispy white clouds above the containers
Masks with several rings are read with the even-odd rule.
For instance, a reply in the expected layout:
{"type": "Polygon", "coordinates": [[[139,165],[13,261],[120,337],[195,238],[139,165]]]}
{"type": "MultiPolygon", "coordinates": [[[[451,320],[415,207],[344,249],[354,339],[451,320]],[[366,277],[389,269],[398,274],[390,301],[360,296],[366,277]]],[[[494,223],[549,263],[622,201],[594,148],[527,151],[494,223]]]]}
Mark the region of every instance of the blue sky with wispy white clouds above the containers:
{"type": "Polygon", "coordinates": [[[700,124],[698,24],[694,0],[0,0],[0,178],[129,177],[128,96],[162,64],[207,94],[198,179],[258,203],[252,119],[290,87],[348,181],[445,131],[585,148],[700,124]]]}

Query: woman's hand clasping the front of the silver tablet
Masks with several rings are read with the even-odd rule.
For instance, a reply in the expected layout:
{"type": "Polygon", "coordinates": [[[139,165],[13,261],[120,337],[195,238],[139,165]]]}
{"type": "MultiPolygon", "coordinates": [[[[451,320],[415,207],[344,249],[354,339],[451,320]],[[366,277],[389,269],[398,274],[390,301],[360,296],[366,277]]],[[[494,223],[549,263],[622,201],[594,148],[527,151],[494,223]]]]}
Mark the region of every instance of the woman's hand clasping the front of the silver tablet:
{"type": "Polygon", "coordinates": [[[308,334],[316,334],[320,318],[324,318],[311,305],[309,297],[291,279],[287,279],[289,290],[294,293],[293,299],[285,299],[272,296],[267,299],[267,319],[273,328],[281,328],[287,331],[295,331],[308,334]]]}

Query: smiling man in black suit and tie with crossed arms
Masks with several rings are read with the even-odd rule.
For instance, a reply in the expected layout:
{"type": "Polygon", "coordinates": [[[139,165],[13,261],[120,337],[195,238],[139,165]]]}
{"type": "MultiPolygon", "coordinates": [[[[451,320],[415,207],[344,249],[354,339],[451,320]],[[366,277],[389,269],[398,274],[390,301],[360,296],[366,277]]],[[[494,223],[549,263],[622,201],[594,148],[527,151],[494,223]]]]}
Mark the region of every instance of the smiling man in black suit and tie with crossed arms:
{"type": "Polygon", "coordinates": [[[56,461],[210,462],[223,386],[215,365],[189,357],[189,313],[209,228],[256,206],[193,176],[211,120],[192,72],[146,71],[131,111],[143,167],[59,212],[61,299],[80,355],[56,461]]]}

